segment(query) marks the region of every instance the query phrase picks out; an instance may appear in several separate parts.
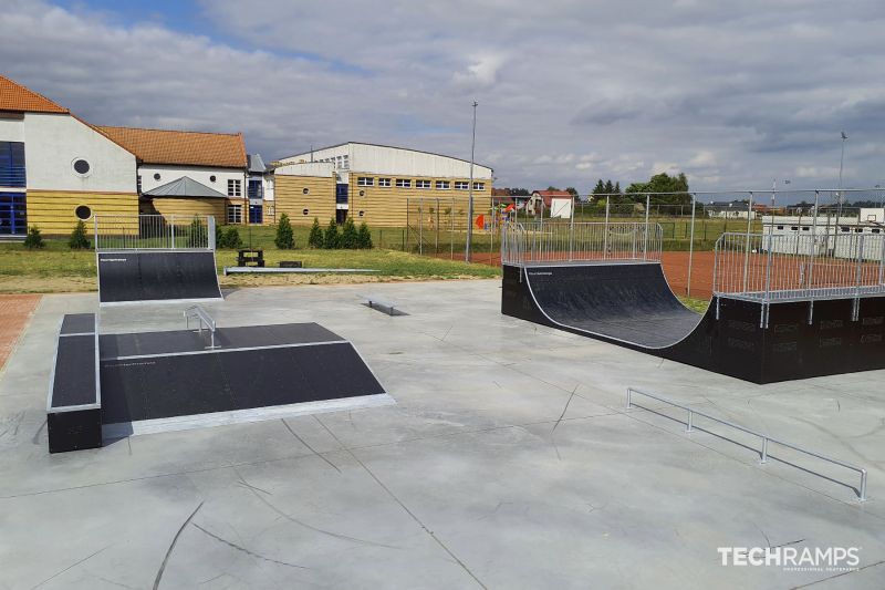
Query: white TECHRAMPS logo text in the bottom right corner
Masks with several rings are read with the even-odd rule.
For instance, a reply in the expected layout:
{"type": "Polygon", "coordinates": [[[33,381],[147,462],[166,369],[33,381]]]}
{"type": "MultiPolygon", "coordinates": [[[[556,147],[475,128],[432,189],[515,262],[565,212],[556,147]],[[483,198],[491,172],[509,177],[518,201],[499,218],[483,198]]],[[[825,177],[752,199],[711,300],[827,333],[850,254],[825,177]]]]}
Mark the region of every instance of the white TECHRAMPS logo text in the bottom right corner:
{"type": "Polygon", "coordinates": [[[856,571],[860,547],[718,547],[722,566],[781,568],[783,571],[856,571]]]}

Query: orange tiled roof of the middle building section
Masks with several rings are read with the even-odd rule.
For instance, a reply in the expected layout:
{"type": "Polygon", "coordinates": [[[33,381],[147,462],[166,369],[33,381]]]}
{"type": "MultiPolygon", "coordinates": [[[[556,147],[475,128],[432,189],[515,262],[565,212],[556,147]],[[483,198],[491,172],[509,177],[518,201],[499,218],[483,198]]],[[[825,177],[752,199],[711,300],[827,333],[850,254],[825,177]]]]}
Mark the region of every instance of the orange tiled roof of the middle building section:
{"type": "Polygon", "coordinates": [[[242,133],[143,130],[96,126],[101,133],[136,155],[144,164],[244,168],[242,133]]]}

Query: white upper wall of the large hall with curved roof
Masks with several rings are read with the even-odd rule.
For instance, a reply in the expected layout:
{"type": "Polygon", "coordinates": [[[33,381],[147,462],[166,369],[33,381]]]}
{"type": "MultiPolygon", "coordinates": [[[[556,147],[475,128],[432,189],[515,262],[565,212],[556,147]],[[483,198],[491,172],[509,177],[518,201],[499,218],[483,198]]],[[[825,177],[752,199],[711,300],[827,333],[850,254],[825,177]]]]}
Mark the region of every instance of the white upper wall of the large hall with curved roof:
{"type": "MultiPolygon", "coordinates": [[[[391,176],[429,176],[437,178],[469,178],[470,163],[462,159],[428,154],[402,147],[387,147],[371,144],[344,144],[326,149],[313,152],[313,162],[335,159],[347,156],[348,168],[355,172],[371,174],[387,174],[391,176]]],[[[311,153],[299,154],[284,158],[284,163],[310,162],[311,153]]],[[[473,178],[477,180],[491,180],[492,169],[487,166],[473,165],[473,178]]]]}

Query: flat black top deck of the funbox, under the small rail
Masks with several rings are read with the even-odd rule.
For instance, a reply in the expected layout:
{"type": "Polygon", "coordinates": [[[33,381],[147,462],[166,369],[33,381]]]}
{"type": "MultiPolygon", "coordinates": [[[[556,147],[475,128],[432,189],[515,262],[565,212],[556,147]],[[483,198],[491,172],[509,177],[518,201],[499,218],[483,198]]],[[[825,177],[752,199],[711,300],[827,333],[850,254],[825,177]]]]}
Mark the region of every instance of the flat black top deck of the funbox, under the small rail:
{"type": "MultiPolygon", "coordinates": [[[[207,330],[204,330],[201,334],[196,330],[102,334],[100,339],[103,360],[143,354],[201,351],[208,348],[210,342],[207,330]]],[[[221,350],[332,342],[337,340],[344,339],[319,323],[312,322],[218,328],[215,333],[216,348],[221,350]]]]}

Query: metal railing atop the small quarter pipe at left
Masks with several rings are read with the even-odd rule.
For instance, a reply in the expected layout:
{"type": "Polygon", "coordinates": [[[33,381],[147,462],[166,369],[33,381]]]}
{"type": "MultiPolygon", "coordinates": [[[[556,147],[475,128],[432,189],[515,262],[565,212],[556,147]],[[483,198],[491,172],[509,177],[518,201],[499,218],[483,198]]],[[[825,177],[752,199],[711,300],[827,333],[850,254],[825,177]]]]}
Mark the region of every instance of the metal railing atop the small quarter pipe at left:
{"type": "Polygon", "coordinates": [[[215,250],[215,217],[96,215],[96,250],[215,250]]]}

